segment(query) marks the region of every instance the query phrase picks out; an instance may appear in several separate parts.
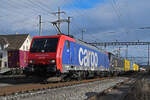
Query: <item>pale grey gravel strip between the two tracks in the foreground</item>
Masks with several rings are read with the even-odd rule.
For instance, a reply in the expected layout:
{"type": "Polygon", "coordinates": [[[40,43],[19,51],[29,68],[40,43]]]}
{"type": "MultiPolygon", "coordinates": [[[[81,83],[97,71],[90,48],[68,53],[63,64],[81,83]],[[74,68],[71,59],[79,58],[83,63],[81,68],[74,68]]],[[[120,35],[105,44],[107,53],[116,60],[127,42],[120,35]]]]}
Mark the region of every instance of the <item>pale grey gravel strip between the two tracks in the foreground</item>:
{"type": "Polygon", "coordinates": [[[118,77],[68,87],[15,94],[13,96],[0,97],[0,100],[86,100],[127,79],[127,77],[118,77]]]}

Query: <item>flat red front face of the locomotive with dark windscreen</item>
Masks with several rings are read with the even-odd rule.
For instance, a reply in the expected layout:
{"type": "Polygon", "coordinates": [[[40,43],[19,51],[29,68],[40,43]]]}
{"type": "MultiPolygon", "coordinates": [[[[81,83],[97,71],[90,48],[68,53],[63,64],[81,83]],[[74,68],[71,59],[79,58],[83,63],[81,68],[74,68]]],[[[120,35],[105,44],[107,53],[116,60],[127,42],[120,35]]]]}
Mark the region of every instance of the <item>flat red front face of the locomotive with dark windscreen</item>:
{"type": "Polygon", "coordinates": [[[34,37],[30,46],[26,74],[56,75],[56,55],[59,37],[34,37]],[[46,73],[46,74],[45,74],[46,73]]]}

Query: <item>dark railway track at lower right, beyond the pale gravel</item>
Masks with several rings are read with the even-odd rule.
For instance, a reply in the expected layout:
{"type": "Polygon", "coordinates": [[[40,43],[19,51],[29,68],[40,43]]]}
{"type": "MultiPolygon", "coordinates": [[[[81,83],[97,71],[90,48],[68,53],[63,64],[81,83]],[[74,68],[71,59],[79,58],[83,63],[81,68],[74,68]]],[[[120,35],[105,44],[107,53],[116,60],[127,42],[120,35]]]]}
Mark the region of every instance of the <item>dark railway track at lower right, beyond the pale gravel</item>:
{"type": "MultiPolygon", "coordinates": [[[[128,92],[131,92],[131,90],[136,86],[136,83],[139,80],[142,80],[144,76],[145,74],[143,73],[140,75],[134,75],[131,79],[117,83],[116,85],[95,94],[88,100],[128,100],[126,99],[128,97],[128,92]]],[[[135,95],[134,93],[132,93],[132,95],[135,95]]]]}

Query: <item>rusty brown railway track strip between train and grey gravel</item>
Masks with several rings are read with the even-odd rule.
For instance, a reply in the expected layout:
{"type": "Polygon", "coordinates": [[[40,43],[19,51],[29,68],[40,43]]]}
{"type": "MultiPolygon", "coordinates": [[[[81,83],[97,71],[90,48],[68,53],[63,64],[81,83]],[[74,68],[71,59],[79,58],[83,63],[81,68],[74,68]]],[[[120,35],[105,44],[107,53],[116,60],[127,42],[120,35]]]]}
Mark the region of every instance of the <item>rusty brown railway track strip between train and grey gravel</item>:
{"type": "Polygon", "coordinates": [[[6,86],[0,88],[0,96],[7,96],[31,91],[38,91],[44,89],[52,89],[52,88],[59,88],[59,87],[66,87],[75,84],[82,84],[88,82],[94,82],[99,80],[104,80],[109,78],[96,78],[96,79],[89,79],[89,80],[81,80],[81,81],[70,81],[70,82],[58,82],[58,83],[48,83],[48,84],[41,84],[41,83],[31,83],[31,84],[19,84],[14,86],[6,86]]]}

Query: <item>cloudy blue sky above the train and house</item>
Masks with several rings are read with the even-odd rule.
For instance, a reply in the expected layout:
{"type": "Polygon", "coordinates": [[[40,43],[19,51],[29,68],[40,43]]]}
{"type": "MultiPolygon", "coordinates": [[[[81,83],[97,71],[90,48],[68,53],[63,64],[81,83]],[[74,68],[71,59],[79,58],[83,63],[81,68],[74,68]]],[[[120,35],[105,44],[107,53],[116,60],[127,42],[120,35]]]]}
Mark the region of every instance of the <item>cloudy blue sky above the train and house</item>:
{"type": "MultiPolygon", "coordinates": [[[[39,35],[39,15],[42,16],[42,35],[57,34],[51,22],[57,20],[58,7],[71,16],[71,34],[84,41],[150,41],[150,0],[0,0],[0,34],[30,33],[39,35]]],[[[61,24],[67,33],[67,24],[61,24]]],[[[117,49],[117,47],[115,47],[117,49]]],[[[147,56],[145,49],[131,47],[129,55],[147,56]],[[144,53],[143,53],[144,52],[144,53]]],[[[122,47],[122,52],[125,47],[122,47]]],[[[125,55],[122,53],[122,55],[125,55]]]]}

